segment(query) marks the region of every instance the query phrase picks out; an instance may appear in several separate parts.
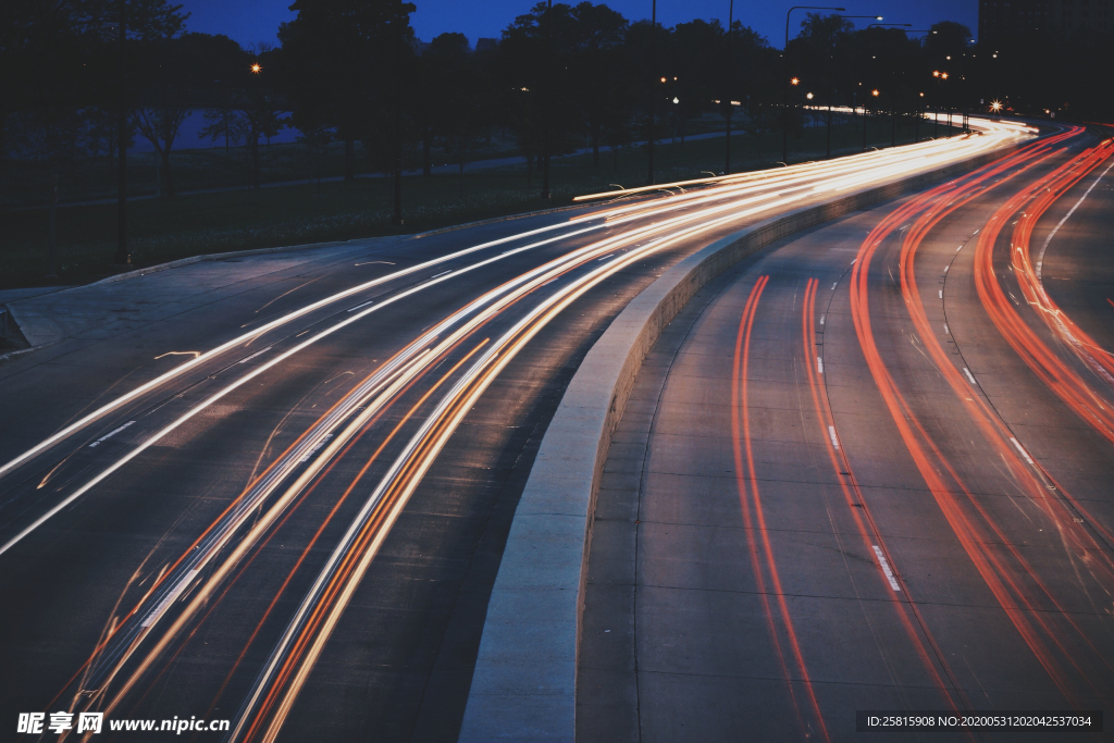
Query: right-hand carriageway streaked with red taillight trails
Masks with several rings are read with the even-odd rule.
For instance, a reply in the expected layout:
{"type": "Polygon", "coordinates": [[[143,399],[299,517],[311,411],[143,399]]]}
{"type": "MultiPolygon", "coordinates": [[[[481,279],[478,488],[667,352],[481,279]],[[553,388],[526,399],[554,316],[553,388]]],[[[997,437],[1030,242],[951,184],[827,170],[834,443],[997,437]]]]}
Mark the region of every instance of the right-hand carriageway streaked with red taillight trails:
{"type": "MultiPolygon", "coordinates": [[[[1111,708],[1112,155],[1049,138],[771,245],[674,320],[604,470],[578,740],[1111,708]]],[[[869,734],[1102,737],[1064,735],[869,734]]]]}

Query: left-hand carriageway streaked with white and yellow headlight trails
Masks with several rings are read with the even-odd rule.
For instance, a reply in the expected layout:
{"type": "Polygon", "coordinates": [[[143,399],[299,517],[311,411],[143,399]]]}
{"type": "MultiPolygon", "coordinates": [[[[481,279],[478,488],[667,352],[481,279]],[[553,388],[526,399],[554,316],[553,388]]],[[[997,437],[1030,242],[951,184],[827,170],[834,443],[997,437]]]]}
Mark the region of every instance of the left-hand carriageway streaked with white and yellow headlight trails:
{"type": "Polygon", "coordinates": [[[1032,136],[984,126],[334,253],[10,359],[3,718],[453,740],[534,448],[607,322],[741,226],[1032,136]]]}

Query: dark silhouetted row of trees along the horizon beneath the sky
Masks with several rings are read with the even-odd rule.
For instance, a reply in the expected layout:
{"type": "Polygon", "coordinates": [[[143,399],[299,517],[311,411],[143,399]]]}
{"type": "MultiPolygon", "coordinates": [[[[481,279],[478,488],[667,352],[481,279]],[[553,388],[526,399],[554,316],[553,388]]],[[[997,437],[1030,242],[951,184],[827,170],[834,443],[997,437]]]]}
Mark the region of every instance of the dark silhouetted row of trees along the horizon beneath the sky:
{"type": "Polygon", "coordinates": [[[547,144],[553,154],[587,147],[599,165],[602,151],[659,137],[662,127],[683,135],[710,113],[762,134],[799,129],[803,106],[829,102],[897,115],[985,110],[1001,99],[1019,113],[1077,118],[1108,116],[1111,106],[1107,76],[1085,74],[1110,61],[1111,45],[1092,37],[991,49],[954,22],[915,37],[809,13],[781,50],[741,21],[665,28],[586,1],[539,2],[497,43],[473,49],[460,33],[418,40],[416,6],[400,0],[295,0],[291,9],[277,47],[243,49],[185,32],[187,14],[166,0],[4,0],[0,167],[31,158],[65,177],[104,157],[110,168],[120,96],[126,134],[158,154],[167,195],[179,128],[197,109],[203,136],[245,146],[257,187],[260,140],[284,126],[311,151],[343,143],[352,179],[360,167],[385,173],[403,159],[429,174],[434,149],[462,170],[495,130],[514,137],[529,173],[547,144]]]}

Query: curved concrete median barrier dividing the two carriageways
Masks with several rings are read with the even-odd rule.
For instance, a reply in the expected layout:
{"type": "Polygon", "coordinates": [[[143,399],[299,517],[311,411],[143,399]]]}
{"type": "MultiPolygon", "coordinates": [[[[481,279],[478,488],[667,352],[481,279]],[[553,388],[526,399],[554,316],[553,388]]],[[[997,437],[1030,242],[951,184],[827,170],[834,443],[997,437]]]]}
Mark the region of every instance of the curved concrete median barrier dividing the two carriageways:
{"type": "Polygon", "coordinates": [[[576,740],[576,674],[596,492],[643,359],[707,282],[794,232],[1008,155],[1012,145],[771,217],[707,245],[643,290],[588,351],[541,440],[491,590],[460,743],[576,740]]]}

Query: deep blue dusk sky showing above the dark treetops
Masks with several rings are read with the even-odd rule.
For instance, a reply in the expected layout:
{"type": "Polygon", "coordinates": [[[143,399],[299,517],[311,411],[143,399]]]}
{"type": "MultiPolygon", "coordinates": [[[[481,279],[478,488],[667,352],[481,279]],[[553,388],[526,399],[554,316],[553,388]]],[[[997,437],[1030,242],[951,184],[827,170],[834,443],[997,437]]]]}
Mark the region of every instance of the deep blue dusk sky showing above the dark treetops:
{"type": "MultiPolygon", "coordinates": [[[[190,31],[224,33],[241,45],[251,47],[260,41],[276,42],[278,23],[293,13],[291,0],[178,0],[190,12],[190,31]]],[[[500,31],[526,12],[534,0],[411,0],[418,12],[411,23],[420,39],[430,40],[438,33],[459,31],[476,43],[478,37],[498,37],[500,31]]],[[[798,2],[800,0],[797,0],[798,2]]],[[[978,0],[843,0],[846,14],[878,13],[887,21],[912,23],[915,29],[928,28],[941,20],[966,23],[977,31],[978,0]]],[[[610,0],[605,4],[631,20],[649,18],[651,0],[610,0]]],[[[784,2],[736,0],[735,13],[747,26],[781,47],[785,36],[785,11],[793,4],[784,2]]],[[[833,2],[832,4],[840,4],[833,2]]],[[[790,35],[795,33],[799,14],[793,13],[790,35]]],[[[727,0],[658,0],[658,20],[673,26],[693,18],[719,18],[726,22],[727,0]]],[[[868,23],[869,21],[857,21],[868,23]]]]}

